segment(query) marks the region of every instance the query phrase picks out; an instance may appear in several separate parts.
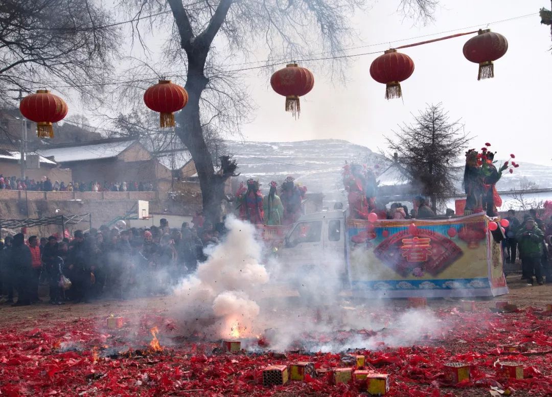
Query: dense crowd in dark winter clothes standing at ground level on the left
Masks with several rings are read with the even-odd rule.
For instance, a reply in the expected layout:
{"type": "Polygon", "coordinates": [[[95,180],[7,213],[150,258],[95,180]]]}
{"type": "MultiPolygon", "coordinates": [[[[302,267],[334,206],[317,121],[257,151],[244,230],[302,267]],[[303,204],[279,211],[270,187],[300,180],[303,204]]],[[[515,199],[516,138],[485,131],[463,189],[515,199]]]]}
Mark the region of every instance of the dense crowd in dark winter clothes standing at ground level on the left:
{"type": "Polygon", "coordinates": [[[181,229],[161,219],[160,226],[144,229],[76,230],[71,240],[8,236],[0,244],[0,292],[14,306],[39,302],[46,283],[51,304],[166,294],[206,260],[205,248],[225,232],[224,224],[214,227],[198,214],[193,227],[183,223],[181,229]]]}

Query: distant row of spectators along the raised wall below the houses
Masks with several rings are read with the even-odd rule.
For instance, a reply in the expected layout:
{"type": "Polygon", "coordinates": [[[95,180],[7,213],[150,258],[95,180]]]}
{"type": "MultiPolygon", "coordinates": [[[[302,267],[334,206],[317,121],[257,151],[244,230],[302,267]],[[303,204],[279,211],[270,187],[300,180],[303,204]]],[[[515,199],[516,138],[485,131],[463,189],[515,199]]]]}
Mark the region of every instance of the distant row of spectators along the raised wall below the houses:
{"type": "Polygon", "coordinates": [[[50,178],[42,177],[39,181],[35,179],[19,179],[16,177],[4,177],[0,174],[0,189],[8,190],[29,190],[34,192],[151,192],[153,184],[143,181],[122,181],[100,183],[90,182],[52,182],[50,178]]]}

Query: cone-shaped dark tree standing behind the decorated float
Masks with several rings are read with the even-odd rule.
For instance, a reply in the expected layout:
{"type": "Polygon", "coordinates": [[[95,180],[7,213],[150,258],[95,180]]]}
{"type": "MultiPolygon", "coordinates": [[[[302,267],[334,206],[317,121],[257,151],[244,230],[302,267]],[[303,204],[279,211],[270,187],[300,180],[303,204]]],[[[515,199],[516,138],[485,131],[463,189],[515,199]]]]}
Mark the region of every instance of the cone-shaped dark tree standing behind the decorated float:
{"type": "Polygon", "coordinates": [[[413,117],[413,124],[399,126],[395,140],[386,137],[389,152],[382,154],[398,162],[406,181],[429,197],[437,211],[456,192],[461,155],[471,138],[464,134],[460,120],[450,121],[441,103],[428,105],[413,117]]]}

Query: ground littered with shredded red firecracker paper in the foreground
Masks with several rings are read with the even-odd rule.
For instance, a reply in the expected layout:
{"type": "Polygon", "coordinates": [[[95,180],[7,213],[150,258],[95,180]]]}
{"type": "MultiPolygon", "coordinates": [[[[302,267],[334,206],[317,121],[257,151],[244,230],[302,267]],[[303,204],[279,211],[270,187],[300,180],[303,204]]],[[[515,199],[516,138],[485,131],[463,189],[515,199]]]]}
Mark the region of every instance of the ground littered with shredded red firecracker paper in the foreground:
{"type": "MultiPolygon", "coordinates": [[[[478,301],[475,313],[460,312],[454,301],[431,301],[428,310],[442,321],[443,329],[413,346],[381,343],[380,350],[359,346],[351,352],[296,351],[285,356],[269,352],[269,347],[221,353],[216,341],[179,337],[176,320],[163,309],[172,304],[170,298],[61,308],[8,309],[4,305],[0,309],[0,394],[353,396],[360,393],[357,386],[332,385],[331,373],[284,386],[262,385],[262,369],[268,364],[310,361],[317,369],[331,369],[348,366],[345,356],[352,353],[364,354],[368,369],[390,374],[391,396],[483,396],[490,395],[491,387],[509,388],[514,396],[552,395],[552,316],[545,311],[552,288],[518,287],[508,297],[495,299],[518,304],[517,313],[493,313],[492,300],[478,301]],[[127,317],[124,329],[106,329],[105,318],[113,311],[127,317]],[[153,326],[159,329],[162,352],[149,347],[153,326]],[[516,351],[505,351],[503,346],[512,344],[516,351]],[[497,376],[497,361],[521,362],[524,379],[497,376]],[[443,366],[449,362],[468,363],[471,379],[454,387],[447,384],[443,366]]],[[[390,301],[373,315],[391,316],[402,310],[403,301],[390,301]]],[[[377,338],[378,332],[384,331],[342,330],[329,337],[369,334],[377,338]]]]}

